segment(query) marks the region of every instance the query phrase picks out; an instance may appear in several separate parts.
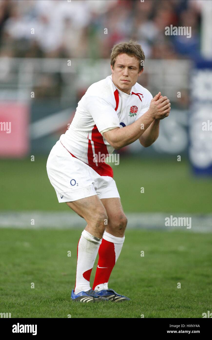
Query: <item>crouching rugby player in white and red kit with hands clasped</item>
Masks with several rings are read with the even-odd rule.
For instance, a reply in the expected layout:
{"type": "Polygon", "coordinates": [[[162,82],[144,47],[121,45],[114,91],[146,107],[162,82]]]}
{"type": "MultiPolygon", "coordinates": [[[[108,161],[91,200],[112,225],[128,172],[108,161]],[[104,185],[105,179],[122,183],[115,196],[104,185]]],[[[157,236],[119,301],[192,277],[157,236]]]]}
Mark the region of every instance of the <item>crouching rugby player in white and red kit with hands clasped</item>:
{"type": "Polygon", "coordinates": [[[107,157],[137,139],[143,147],[149,147],[157,139],[160,120],[169,116],[171,104],[161,92],[153,98],[137,83],[143,62],[144,53],[137,41],[113,47],[112,74],[88,88],[69,129],[47,160],[47,173],[59,203],[66,202],[87,223],[77,246],[76,283],[71,294],[74,301],[130,300],[108,287],[124,242],[127,218],[113,169],[94,155],[107,157]]]}

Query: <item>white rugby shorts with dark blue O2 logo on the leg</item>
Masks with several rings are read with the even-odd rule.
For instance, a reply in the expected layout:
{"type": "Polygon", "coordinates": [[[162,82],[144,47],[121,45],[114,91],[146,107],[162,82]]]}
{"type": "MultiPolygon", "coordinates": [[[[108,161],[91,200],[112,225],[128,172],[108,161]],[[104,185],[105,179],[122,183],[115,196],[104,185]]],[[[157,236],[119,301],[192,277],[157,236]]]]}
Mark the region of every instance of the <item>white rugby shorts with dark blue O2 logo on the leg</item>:
{"type": "Polygon", "coordinates": [[[59,203],[93,195],[100,199],[120,198],[112,177],[100,176],[89,165],[73,157],[59,140],[49,154],[46,170],[59,203]]]}

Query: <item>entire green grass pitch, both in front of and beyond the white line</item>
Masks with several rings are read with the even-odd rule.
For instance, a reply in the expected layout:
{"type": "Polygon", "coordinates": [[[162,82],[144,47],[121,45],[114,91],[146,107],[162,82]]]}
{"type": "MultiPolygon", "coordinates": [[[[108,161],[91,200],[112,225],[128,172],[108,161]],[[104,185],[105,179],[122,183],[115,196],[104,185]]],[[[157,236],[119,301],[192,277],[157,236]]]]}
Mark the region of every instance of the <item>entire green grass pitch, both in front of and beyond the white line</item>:
{"type": "MultiPolygon", "coordinates": [[[[46,159],[0,160],[2,212],[70,210],[57,201],[46,159]]],[[[120,155],[120,164],[113,169],[125,212],[211,212],[212,181],[194,177],[184,157],[177,162],[120,155]]],[[[141,314],[202,318],[202,313],[212,310],[212,234],[127,229],[109,287],[132,301],[89,305],[70,301],[80,234],[80,229],[0,229],[0,312],[11,312],[12,318],[69,314],[71,318],[140,318],[141,314]]],[[[96,264],[92,283],[95,268],[96,264]]]]}

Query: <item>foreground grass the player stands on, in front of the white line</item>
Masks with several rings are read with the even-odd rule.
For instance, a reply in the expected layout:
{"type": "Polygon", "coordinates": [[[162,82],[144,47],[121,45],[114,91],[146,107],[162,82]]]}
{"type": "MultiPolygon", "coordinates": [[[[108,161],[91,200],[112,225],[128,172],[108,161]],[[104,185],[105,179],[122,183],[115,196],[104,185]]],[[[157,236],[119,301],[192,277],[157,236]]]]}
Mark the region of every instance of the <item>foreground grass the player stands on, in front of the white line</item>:
{"type": "Polygon", "coordinates": [[[0,233],[0,311],[12,318],[202,318],[212,309],[212,234],[128,230],[109,283],[132,301],[81,304],[70,301],[79,229],[0,233]]]}

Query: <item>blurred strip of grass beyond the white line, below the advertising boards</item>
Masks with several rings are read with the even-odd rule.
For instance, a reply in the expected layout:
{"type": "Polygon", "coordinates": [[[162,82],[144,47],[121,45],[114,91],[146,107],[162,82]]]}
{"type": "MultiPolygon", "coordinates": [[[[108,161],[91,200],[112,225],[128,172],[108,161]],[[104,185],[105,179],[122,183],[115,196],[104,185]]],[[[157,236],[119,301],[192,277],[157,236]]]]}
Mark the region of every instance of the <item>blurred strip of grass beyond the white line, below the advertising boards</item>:
{"type": "MultiPolygon", "coordinates": [[[[4,181],[0,210],[70,210],[59,204],[46,173],[47,157],[1,159],[4,181]]],[[[147,159],[124,157],[113,166],[114,180],[126,212],[199,213],[211,212],[212,181],[192,175],[182,158],[147,159]],[[140,188],[144,187],[144,193],[140,188]]]]}

